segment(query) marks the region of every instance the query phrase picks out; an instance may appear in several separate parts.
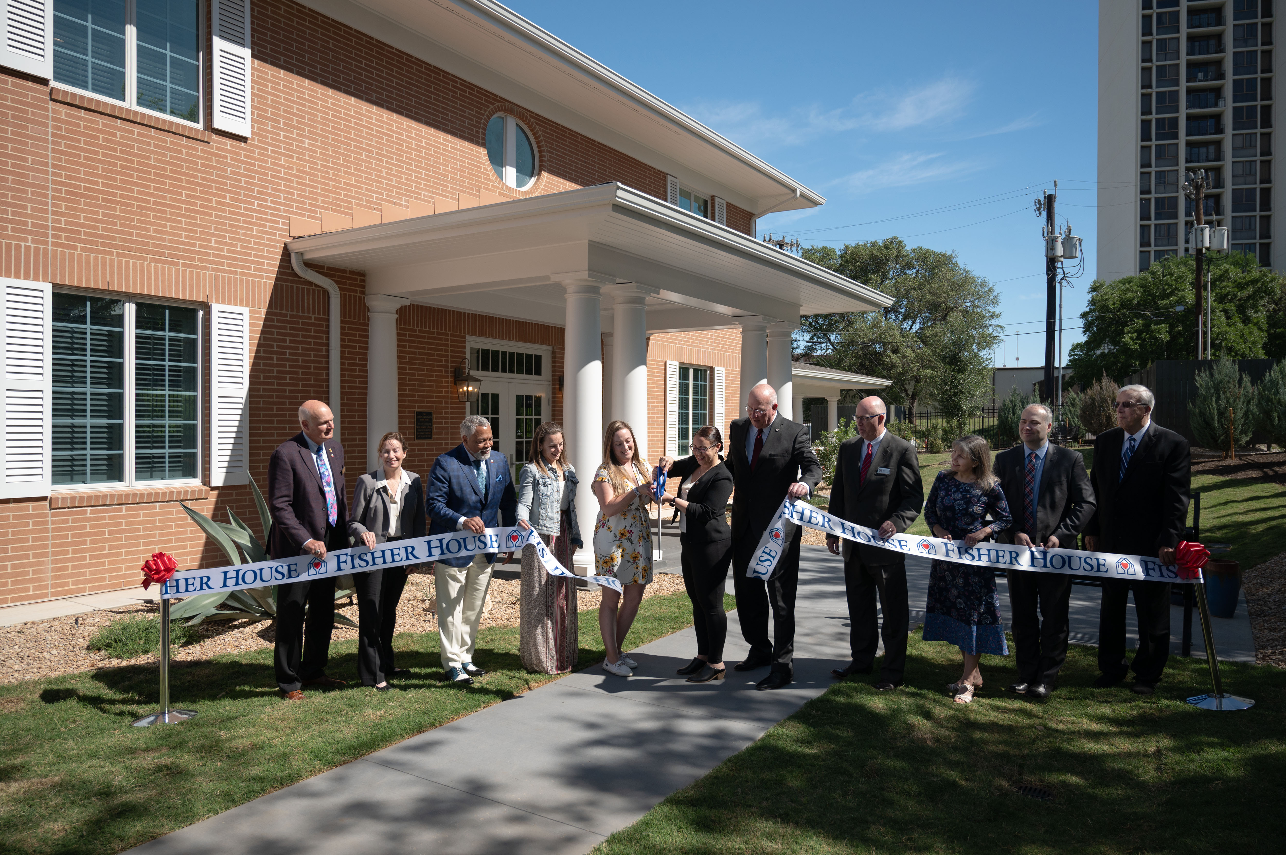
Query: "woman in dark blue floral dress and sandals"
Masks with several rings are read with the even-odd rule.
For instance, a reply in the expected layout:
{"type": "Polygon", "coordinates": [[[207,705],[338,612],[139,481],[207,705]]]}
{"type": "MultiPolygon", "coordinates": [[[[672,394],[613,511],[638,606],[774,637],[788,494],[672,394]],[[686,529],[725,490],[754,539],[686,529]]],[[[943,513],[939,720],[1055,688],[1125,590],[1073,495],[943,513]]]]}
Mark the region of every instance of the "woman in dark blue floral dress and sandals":
{"type": "MultiPolygon", "coordinates": [[[[925,522],[935,537],[975,546],[1013,522],[999,482],[992,474],[992,451],[980,436],[952,444],[952,468],[939,472],[925,504],[925,522]],[[992,522],[988,523],[986,518],[992,522]]],[[[925,640],[950,642],[964,654],[964,670],[948,690],[968,703],[983,685],[983,653],[1008,656],[995,572],[953,561],[934,559],[925,604],[925,640]]]]}

